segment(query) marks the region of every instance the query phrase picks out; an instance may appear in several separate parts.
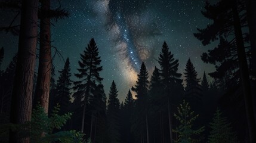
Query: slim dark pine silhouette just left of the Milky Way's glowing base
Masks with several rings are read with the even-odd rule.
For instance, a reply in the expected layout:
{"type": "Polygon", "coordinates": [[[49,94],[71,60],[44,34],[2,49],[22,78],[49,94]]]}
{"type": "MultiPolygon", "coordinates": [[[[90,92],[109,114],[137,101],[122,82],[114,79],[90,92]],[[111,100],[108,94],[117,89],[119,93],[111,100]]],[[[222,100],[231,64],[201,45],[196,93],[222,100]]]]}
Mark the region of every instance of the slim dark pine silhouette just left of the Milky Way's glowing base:
{"type": "Polygon", "coordinates": [[[113,80],[109,91],[109,100],[107,101],[107,121],[110,142],[120,142],[119,125],[120,102],[118,100],[118,90],[113,80]]]}

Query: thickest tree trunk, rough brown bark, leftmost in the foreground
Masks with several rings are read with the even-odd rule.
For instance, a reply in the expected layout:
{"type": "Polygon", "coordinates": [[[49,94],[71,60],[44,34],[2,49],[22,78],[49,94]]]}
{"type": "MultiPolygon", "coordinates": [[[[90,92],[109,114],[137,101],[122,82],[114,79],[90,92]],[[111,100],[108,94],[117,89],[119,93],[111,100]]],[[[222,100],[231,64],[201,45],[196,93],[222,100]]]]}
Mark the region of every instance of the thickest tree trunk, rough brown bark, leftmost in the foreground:
{"type": "MultiPolygon", "coordinates": [[[[10,123],[23,124],[31,118],[33,77],[38,36],[38,0],[23,0],[21,5],[18,57],[11,97],[10,123]]],[[[29,143],[30,138],[18,138],[10,130],[10,143],[29,143]]]]}

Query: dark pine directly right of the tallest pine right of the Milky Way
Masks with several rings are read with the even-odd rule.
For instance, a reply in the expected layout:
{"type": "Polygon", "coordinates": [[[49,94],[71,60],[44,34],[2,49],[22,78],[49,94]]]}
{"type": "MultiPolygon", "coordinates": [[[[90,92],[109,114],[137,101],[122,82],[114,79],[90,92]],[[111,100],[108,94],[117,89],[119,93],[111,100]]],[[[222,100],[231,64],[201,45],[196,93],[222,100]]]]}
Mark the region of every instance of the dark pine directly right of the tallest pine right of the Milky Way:
{"type": "Polygon", "coordinates": [[[192,107],[195,108],[196,111],[198,111],[202,105],[202,89],[199,85],[200,79],[197,76],[198,73],[189,58],[184,72],[185,81],[187,83],[185,98],[192,104],[192,107]]]}

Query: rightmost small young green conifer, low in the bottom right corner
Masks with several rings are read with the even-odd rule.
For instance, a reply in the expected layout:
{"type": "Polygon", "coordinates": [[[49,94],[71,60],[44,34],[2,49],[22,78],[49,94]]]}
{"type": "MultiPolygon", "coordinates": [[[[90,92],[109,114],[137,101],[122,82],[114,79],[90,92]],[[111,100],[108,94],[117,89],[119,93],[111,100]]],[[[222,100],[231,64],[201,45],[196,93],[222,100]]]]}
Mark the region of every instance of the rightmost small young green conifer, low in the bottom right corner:
{"type": "Polygon", "coordinates": [[[214,113],[212,122],[209,123],[211,131],[210,135],[208,136],[208,142],[239,142],[236,133],[232,131],[231,124],[227,122],[227,118],[223,117],[222,114],[223,113],[221,113],[219,109],[217,109],[214,113]]]}

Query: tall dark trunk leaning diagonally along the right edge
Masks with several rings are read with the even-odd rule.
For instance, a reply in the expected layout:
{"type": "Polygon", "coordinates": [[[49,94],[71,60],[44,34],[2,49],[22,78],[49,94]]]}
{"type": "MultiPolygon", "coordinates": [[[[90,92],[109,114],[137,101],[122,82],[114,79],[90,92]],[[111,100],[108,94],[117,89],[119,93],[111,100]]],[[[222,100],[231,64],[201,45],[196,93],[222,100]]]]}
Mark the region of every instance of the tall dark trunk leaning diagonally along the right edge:
{"type": "Polygon", "coordinates": [[[234,22],[234,29],[235,29],[235,36],[236,36],[236,46],[238,51],[238,63],[239,63],[239,70],[240,70],[240,83],[243,87],[243,97],[245,100],[245,109],[246,109],[246,116],[248,122],[248,129],[249,129],[249,138],[250,142],[256,142],[256,126],[255,126],[255,119],[254,119],[254,111],[252,105],[252,96],[251,96],[251,85],[249,80],[249,71],[248,71],[248,64],[246,60],[245,54],[245,47],[243,45],[243,36],[242,30],[240,25],[239,13],[238,13],[238,6],[236,5],[236,1],[233,2],[233,22],[234,22]]]}

